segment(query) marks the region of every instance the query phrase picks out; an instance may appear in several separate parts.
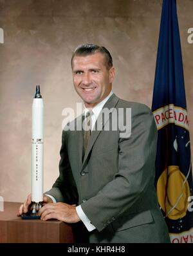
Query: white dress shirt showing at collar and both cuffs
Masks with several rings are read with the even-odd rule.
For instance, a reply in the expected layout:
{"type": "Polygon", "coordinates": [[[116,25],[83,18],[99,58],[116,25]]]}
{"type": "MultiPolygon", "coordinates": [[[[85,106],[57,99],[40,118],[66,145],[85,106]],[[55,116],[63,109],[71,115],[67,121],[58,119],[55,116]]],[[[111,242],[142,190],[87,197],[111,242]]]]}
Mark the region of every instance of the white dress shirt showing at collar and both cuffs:
{"type": "MultiPolygon", "coordinates": [[[[100,111],[102,111],[102,108],[104,107],[105,103],[107,102],[107,100],[109,100],[112,94],[113,92],[111,91],[109,95],[106,98],[104,98],[104,100],[100,101],[100,103],[98,103],[95,107],[93,107],[92,109],[93,114],[91,116],[91,125],[92,125],[91,130],[95,125],[96,119],[98,118],[100,111]]],[[[88,111],[90,111],[90,109],[85,108],[83,113],[86,115],[88,111]]],[[[51,195],[47,195],[47,196],[53,200],[53,203],[56,203],[56,200],[54,197],[52,197],[51,195]]],[[[82,222],[84,223],[88,231],[92,231],[93,229],[95,229],[95,226],[91,224],[91,221],[87,218],[81,206],[77,206],[76,211],[77,211],[78,217],[80,218],[80,220],[82,220],[82,222]]]]}

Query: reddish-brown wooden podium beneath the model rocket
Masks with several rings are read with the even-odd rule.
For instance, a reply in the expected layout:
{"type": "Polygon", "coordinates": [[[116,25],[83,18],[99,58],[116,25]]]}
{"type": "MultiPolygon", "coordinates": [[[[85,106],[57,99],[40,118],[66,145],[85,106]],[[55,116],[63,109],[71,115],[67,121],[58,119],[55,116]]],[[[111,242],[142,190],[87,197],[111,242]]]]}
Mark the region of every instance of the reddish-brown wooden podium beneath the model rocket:
{"type": "Polygon", "coordinates": [[[1,242],[72,243],[71,226],[59,220],[22,220],[17,217],[21,203],[5,202],[0,211],[1,242]]]}

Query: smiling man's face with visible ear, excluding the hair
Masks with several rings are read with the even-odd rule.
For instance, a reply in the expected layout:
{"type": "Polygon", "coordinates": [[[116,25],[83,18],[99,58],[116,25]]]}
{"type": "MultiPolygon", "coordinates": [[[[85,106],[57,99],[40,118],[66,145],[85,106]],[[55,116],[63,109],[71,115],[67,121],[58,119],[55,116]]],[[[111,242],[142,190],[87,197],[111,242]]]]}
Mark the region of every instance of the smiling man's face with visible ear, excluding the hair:
{"type": "Polygon", "coordinates": [[[107,69],[100,52],[75,56],[72,63],[73,84],[87,108],[93,108],[111,92],[115,69],[107,69]]]}

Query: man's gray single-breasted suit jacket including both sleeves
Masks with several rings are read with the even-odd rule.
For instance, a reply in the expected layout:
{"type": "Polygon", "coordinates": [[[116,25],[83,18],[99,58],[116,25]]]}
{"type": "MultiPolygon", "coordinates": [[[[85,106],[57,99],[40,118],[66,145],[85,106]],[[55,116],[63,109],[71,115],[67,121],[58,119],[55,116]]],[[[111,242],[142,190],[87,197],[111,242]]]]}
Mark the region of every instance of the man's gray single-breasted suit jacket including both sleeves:
{"type": "Polygon", "coordinates": [[[96,227],[89,233],[90,242],[169,242],[154,187],[154,116],[147,106],[115,94],[104,108],[111,113],[102,131],[92,131],[83,160],[83,132],[63,131],[60,175],[46,193],[57,202],[81,204],[96,227]],[[114,131],[111,126],[113,113],[120,108],[131,108],[129,138],[121,138],[119,127],[114,131]],[[104,129],[107,122],[110,131],[104,129]]]}

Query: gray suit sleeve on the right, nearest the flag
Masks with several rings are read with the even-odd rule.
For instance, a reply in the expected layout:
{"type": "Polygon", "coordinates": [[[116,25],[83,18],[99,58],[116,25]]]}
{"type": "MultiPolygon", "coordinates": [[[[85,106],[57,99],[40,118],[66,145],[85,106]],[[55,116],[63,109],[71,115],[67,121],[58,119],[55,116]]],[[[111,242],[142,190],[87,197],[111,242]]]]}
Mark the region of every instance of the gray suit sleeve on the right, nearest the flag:
{"type": "Polygon", "coordinates": [[[131,109],[131,136],[119,139],[118,173],[95,197],[81,204],[92,224],[101,231],[142,197],[154,180],[157,129],[145,105],[131,109]]]}

